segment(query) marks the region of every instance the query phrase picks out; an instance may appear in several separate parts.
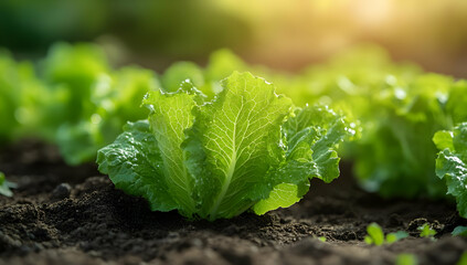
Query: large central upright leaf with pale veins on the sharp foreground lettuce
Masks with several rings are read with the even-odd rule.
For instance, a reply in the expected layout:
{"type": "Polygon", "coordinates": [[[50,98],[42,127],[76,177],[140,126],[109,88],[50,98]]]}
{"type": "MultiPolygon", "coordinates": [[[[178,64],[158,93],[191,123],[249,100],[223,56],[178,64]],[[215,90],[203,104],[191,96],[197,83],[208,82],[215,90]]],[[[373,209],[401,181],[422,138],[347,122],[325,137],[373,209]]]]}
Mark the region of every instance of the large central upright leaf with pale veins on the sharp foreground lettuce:
{"type": "Polygon", "coordinates": [[[212,104],[197,109],[188,144],[204,153],[202,183],[214,186],[200,189],[216,190],[202,199],[200,215],[210,220],[237,215],[267,197],[264,186],[280,160],[280,125],[291,107],[272,84],[251,74],[234,73],[223,87],[212,104]]]}

